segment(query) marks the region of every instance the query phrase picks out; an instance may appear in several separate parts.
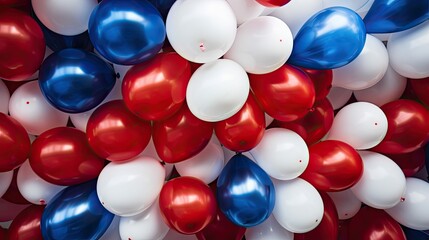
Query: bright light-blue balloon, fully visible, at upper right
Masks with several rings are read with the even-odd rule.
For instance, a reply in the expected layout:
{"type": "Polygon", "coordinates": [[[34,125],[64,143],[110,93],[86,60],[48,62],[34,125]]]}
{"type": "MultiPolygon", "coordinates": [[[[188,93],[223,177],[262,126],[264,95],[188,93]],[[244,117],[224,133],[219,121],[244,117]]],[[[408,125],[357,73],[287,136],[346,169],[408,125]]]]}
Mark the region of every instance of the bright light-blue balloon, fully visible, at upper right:
{"type": "Polygon", "coordinates": [[[313,15],[293,41],[288,63],[311,69],[333,69],[353,61],[365,45],[365,25],[344,7],[331,7],[313,15]]]}

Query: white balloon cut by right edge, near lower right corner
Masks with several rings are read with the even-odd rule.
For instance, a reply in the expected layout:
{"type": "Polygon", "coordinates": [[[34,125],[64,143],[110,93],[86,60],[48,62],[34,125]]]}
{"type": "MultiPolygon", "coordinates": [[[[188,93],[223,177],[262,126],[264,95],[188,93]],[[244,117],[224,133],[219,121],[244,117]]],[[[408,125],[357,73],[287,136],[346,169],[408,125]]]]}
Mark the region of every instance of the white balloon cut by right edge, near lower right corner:
{"type": "Polygon", "coordinates": [[[393,208],[385,211],[400,224],[416,229],[429,229],[429,183],[417,178],[407,178],[404,197],[393,208]]]}

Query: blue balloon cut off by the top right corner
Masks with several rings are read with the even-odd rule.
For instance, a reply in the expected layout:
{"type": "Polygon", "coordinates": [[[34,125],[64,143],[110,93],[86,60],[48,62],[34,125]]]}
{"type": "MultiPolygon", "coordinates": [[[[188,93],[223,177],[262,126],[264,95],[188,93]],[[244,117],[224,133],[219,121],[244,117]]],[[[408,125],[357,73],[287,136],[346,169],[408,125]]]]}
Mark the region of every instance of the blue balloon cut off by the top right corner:
{"type": "Polygon", "coordinates": [[[376,0],[363,21],[368,33],[392,33],[407,30],[428,19],[428,0],[376,0]]]}

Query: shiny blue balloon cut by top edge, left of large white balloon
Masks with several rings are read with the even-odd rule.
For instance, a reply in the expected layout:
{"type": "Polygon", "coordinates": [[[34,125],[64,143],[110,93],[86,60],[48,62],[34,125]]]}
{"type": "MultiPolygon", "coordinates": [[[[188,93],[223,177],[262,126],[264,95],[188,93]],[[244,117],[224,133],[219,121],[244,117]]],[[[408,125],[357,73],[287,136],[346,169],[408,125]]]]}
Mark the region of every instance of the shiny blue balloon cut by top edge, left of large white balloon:
{"type": "Polygon", "coordinates": [[[95,49],[120,65],[152,58],[166,36],[160,13],[146,0],[102,1],[91,13],[88,32],[95,49]]]}

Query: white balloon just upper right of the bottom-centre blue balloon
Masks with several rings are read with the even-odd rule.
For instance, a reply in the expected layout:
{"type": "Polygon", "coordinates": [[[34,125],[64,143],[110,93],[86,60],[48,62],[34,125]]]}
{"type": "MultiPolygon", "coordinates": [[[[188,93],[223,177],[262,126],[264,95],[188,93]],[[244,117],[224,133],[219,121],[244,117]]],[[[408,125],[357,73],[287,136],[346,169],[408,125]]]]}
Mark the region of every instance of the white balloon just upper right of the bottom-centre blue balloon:
{"type": "Polygon", "coordinates": [[[250,154],[273,178],[290,180],[301,175],[308,166],[309,152],[305,141],[294,131],[271,128],[250,154]]]}

